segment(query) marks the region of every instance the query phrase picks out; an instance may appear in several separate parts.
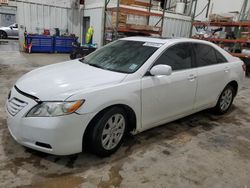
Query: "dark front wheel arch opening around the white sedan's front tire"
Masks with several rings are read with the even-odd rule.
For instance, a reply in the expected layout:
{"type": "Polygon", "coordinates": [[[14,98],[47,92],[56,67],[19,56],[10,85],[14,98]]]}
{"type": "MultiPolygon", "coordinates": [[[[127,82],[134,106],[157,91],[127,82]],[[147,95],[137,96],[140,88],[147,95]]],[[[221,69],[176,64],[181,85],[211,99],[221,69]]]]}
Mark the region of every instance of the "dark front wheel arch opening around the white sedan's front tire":
{"type": "Polygon", "coordinates": [[[89,124],[87,125],[84,133],[83,133],[83,138],[82,138],[82,148],[88,148],[88,146],[86,145],[86,143],[88,143],[89,141],[89,136],[90,133],[92,131],[93,128],[93,124],[109,109],[114,108],[114,107],[119,107],[124,109],[124,111],[127,114],[127,118],[128,118],[128,132],[131,132],[133,130],[136,130],[137,128],[137,117],[136,117],[136,113],[135,111],[128,105],[126,104],[113,104],[110,106],[107,106],[105,108],[103,108],[101,111],[99,111],[89,122],[89,124]]]}

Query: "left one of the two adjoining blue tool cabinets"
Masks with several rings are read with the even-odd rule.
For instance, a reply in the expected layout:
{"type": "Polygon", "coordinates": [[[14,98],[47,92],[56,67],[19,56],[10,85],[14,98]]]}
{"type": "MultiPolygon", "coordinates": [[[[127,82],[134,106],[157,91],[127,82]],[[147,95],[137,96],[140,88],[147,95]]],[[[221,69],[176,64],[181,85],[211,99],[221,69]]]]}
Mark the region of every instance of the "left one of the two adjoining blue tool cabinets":
{"type": "Polygon", "coordinates": [[[54,38],[52,36],[27,35],[26,42],[28,45],[32,43],[31,52],[54,52],[54,38]]]}

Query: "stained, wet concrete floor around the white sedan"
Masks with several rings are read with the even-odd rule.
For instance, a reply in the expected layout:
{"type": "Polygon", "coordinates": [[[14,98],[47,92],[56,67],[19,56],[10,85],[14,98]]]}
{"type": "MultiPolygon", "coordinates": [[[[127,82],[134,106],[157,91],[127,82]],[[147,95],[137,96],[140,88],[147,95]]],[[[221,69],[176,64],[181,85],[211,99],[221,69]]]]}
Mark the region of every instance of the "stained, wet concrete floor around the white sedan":
{"type": "Polygon", "coordinates": [[[250,79],[228,114],[203,111],[130,136],[108,158],[58,157],[17,144],[6,125],[9,89],[24,73],[67,59],[0,51],[1,188],[250,188],[250,79]]]}

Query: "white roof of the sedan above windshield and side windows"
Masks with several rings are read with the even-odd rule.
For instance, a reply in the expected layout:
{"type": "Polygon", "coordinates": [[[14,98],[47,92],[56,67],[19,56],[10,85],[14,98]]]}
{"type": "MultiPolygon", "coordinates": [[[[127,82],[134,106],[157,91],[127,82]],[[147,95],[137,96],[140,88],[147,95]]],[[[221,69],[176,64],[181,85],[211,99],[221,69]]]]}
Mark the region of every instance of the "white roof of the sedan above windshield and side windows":
{"type": "Polygon", "coordinates": [[[191,38],[182,38],[182,37],[126,37],[120,40],[129,40],[129,41],[140,41],[140,42],[152,42],[152,43],[175,43],[175,42],[199,42],[199,43],[206,43],[211,44],[210,42],[198,39],[191,39],[191,38]]]}

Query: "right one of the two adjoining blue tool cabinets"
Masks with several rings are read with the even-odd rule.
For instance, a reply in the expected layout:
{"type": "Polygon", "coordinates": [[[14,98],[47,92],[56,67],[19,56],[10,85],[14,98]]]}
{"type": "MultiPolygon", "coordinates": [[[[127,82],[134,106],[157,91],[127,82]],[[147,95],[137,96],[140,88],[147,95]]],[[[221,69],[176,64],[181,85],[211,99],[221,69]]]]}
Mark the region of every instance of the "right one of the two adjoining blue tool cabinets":
{"type": "Polygon", "coordinates": [[[54,37],[54,51],[57,53],[70,53],[73,51],[72,43],[77,38],[73,37],[54,37]]]}

